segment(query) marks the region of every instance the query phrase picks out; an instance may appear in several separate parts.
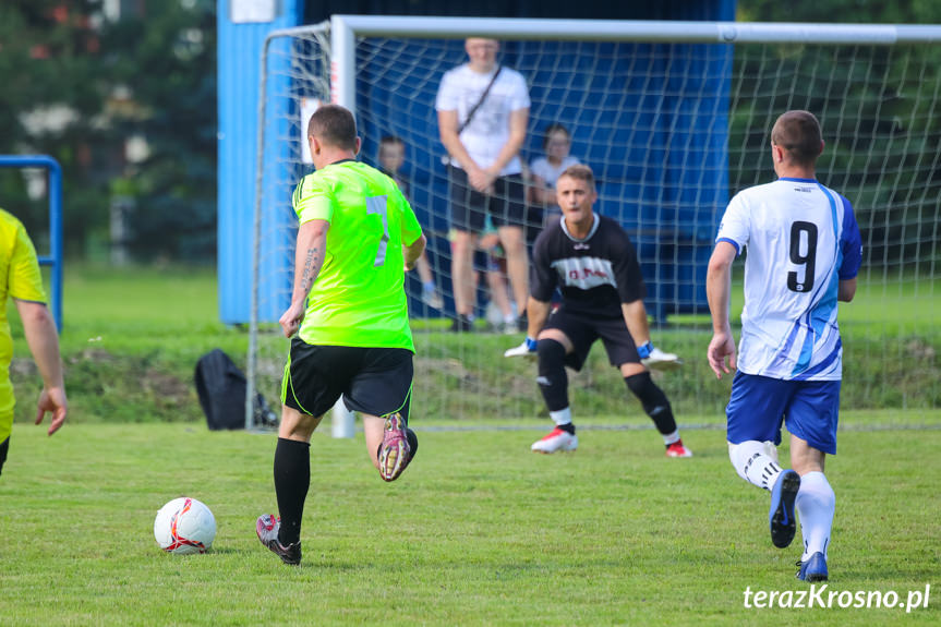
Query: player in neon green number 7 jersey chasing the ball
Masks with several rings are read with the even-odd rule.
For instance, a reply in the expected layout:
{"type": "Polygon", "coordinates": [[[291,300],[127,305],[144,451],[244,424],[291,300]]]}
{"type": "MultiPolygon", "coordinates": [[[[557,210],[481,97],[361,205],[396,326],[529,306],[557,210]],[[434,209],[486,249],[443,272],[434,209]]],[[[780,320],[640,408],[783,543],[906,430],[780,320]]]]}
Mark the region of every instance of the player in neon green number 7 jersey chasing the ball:
{"type": "Polygon", "coordinates": [[[279,321],[293,337],[275,449],[280,518],[266,514],[255,526],[286,564],[301,560],[311,435],[341,395],[362,414],[366,449],[384,480],[397,479],[418,448],[408,429],[414,345],[403,282],[425,238],[396,182],[355,160],[350,111],[317,109],[307,142],[316,171],[294,191],[294,288],[279,321]]]}

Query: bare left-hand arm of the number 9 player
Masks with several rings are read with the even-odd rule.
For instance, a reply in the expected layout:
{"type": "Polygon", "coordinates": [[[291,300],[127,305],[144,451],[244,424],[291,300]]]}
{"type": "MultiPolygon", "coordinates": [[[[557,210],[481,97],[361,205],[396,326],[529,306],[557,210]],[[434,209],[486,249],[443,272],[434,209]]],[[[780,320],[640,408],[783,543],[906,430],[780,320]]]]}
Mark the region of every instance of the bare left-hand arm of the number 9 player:
{"type": "Polygon", "coordinates": [[[716,243],[705,274],[705,297],[712,314],[712,340],[709,342],[707,357],[709,367],[716,378],[722,378],[723,373],[728,374],[731,369],[735,369],[735,340],[728,321],[732,262],[735,261],[735,246],[731,243],[716,243]]]}

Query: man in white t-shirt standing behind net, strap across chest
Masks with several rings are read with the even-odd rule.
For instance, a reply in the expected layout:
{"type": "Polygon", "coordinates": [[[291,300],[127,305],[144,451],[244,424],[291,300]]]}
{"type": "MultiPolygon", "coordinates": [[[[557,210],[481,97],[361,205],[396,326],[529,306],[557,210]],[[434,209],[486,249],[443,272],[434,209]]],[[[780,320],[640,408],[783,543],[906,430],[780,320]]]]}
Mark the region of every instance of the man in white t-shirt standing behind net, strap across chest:
{"type": "Polygon", "coordinates": [[[472,328],[474,240],[487,215],[506,253],[518,312],[526,311],[529,294],[526,188],[519,158],[529,89],[519,72],[497,64],[499,44],[494,39],[471,37],[465,49],[468,62],[445,73],[435,103],[442,144],[450,157],[451,280],[458,314],[451,330],[458,331],[472,328]]]}

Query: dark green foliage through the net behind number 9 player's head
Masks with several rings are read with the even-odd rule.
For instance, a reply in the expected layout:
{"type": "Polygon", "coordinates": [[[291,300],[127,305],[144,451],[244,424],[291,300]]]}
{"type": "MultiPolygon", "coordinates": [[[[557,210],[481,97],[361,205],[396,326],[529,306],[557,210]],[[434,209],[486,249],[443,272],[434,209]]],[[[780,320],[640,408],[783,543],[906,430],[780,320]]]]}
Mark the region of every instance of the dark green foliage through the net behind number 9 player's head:
{"type": "Polygon", "coordinates": [[[825,142],[818,178],[853,204],[865,264],[928,268],[941,255],[932,230],[941,220],[939,68],[938,46],[736,46],[731,192],[773,177],[772,125],[807,109],[825,142]]]}

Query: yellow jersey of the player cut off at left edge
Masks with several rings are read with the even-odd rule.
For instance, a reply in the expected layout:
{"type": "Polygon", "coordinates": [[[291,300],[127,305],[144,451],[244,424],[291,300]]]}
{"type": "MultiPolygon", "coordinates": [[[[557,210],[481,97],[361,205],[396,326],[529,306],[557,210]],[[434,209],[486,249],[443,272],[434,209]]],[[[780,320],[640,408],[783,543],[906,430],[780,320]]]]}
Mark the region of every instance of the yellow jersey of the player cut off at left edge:
{"type": "Polygon", "coordinates": [[[13,384],[9,373],[13,338],[7,321],[7,300],[11,297],[46,302],[36,249],[20,220],[0,209],[0,442],[10,435],[13,423],[13,384]]]}

